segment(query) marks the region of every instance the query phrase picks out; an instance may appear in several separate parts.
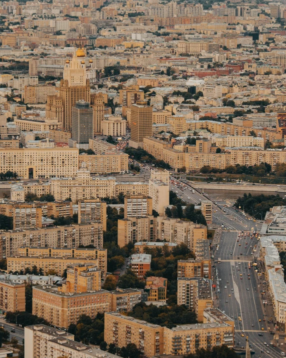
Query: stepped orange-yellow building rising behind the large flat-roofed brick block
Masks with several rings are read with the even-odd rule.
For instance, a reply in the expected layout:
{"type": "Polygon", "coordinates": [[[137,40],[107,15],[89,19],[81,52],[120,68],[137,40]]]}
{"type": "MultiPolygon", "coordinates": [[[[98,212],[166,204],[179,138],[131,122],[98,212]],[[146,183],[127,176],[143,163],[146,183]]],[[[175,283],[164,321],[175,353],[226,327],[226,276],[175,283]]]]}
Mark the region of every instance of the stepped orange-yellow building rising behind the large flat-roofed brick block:
{"type": "Polygon", "coordinates": [[[101,289],[101,271],[94,264],[74,265],[67,269],[66,275],[62,292],[79,293],[101,289]]]}

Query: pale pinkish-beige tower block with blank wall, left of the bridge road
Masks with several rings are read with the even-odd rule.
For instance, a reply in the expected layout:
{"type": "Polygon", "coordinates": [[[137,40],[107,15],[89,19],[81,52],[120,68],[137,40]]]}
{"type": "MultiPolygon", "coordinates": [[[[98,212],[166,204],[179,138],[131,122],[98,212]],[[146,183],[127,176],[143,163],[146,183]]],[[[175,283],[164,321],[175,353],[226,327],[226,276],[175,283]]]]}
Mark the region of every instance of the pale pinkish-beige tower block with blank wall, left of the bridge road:
{"type": "Polygon", "coordinates": [[[149,196],[152,198],[152,209],[164,215],[169,205],[169,183],[157,179],[149,179],[149,196]]]}

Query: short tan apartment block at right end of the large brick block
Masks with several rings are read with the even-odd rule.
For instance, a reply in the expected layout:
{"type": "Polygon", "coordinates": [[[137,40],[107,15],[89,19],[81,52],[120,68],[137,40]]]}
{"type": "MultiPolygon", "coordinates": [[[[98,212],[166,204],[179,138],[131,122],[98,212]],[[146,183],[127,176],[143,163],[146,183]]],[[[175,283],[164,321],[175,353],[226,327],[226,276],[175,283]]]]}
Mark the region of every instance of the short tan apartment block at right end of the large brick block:
{"type": "Polygon", "coordinates": [[[129,312],[141,302],[141,291],[135,288],[117,288],[111,293],[111,311],[129,312]]]}

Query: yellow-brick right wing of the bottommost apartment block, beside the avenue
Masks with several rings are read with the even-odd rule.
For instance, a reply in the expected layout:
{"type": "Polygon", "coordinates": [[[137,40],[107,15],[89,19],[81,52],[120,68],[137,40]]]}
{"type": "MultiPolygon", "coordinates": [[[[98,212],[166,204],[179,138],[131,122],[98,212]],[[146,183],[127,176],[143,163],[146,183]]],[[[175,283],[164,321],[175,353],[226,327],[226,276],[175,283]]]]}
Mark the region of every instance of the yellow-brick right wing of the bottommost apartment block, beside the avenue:
{"type": "Polygon", "coordinates": [[[195,353],[198,348],[234,345],[234,330],[227,323],[196,323],[164,327],[164,354],[179,355],[195,353]]]}

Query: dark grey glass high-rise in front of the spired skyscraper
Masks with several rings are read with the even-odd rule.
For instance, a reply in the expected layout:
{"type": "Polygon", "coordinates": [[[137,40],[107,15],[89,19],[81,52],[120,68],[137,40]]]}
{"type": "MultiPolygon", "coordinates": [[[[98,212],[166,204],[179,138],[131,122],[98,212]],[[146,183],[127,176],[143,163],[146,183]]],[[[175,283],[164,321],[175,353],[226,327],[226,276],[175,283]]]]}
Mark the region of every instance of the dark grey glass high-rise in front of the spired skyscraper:
{"type": "Polygon", "coordinates": [[[88,102],[78,101],[71,109],[71,138],[78,148],[88,149],[93,138],[93,109],[88,102]]]}

